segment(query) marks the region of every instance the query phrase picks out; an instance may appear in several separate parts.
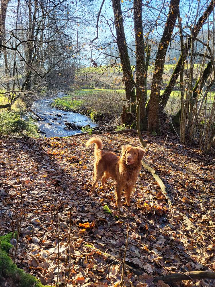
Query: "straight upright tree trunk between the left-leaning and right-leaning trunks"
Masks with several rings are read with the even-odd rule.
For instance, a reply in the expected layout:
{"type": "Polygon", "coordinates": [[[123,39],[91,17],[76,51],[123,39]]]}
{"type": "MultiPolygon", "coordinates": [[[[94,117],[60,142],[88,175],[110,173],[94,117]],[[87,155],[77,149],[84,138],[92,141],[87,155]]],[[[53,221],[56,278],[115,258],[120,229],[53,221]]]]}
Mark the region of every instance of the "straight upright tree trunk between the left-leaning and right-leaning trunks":
{"type": "MultiPolygon", "coordinates": [[[[142,97],[140,100],[140,92],[136,89],[136,101],[138,102],[138,109],[140,113],[139,123],[140,129],[147,128],[146,122],[146,108],[145,108],[145,94],[146,94],[146,78],[145,71],[145,47],[142,28],[142,0],[134,0],[134,30],[135,30],[135,44],[136,44],[136,83],[142,90],[142,97]]],[[[136,111],[137,114],[137,111],[136,111]]]]}

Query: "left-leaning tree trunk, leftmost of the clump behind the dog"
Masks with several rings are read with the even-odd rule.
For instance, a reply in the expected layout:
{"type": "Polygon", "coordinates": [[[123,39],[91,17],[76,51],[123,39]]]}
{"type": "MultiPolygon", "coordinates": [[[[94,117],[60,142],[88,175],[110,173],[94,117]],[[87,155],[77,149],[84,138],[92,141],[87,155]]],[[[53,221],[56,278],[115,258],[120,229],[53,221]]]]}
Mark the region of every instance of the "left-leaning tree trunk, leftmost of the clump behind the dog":
{"type": "Polygon", "coordinates": [[[129,73],[131,73],[131,64],[128,55],[128,47],[126,43],[126,37],[123,26],[123,17],[120,0],[112,0],[112,6],[114,11],[114,24],[116,29],[117,45],[120,52],[120,59],[122,64],[123,78],[125,81],[126,100],[129,101],[127,109],[124,108],[123,115],[121,117],[122,124],[128,124],[132,117],[130,113],[136,113],[136,97],[134,85],[132,84],[129,73]]]}

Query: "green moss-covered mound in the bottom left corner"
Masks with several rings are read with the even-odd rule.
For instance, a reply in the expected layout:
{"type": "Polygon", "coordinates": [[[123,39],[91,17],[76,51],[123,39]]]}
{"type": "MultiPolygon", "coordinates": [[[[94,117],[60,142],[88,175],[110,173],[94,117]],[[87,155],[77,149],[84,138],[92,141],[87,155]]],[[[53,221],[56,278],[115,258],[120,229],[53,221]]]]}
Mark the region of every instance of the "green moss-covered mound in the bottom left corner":
{"type": "Polygon", "coordinates": [[[12,278],[19,287],[48,287],[48,285],[44,286],[39,279],[13,264],[12,259],[8,256],[8,252],[12,248],[10,241],[13,237],[17,237],[17,232],[0,236],[0,276],[12,278]]]}

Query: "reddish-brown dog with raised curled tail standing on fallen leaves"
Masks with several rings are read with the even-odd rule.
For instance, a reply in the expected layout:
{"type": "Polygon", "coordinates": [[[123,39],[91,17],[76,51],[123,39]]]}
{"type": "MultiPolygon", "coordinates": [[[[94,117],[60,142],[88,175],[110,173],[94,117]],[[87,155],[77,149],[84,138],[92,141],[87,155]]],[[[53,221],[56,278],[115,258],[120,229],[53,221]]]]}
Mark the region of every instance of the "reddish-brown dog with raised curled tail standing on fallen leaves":
{"type": "Polygon", "coordinates": [[[95,144],[94,155],[94,177],[92,184],[92,193],[95,195],[95,186],[97,181],[101,179],[101,185],[104,190],[105,181],[108,178],[116,180],[116,205],[122,212],[121,193],[122,189],[126,193],[126,203],[130,205],[130,197],[133,187],[136,183],[140,168],[141,160],[145,154],[140,147],[131,145],[122,146],[122,156],[117,156],[114,152],[105,152],[101,150],[102,141],[99,137],[91,137],[86,143],[86,147],[95,144]]]}

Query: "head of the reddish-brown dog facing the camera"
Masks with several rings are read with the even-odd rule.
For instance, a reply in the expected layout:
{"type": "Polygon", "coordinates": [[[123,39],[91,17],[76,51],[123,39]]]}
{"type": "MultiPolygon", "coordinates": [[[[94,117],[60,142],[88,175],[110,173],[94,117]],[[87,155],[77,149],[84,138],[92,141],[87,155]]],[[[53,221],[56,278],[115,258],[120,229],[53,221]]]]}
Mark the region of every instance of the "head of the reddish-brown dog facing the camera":
{"type": "Polygon", "coordinates": [[[145,151],[139,147],[131,145],[122,146],[122,157],[125,157],[127,165],[140,162],[145,154],[145,151]]]}

